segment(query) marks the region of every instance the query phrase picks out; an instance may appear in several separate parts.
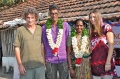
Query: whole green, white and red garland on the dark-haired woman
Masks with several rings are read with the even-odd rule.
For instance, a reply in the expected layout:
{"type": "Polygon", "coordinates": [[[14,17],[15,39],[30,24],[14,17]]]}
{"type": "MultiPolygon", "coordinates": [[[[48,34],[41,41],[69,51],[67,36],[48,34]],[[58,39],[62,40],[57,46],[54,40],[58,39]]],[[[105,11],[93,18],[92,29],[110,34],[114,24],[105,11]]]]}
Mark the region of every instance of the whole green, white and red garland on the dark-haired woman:
{"type": "Polygon", "coordinates": [[[72,47],[73,47],[73,51],[76,57],[76,66],[80,66],[80,62],[82,60],[83,54],[86,51],[86,46],[88,45],[88,31],[86,28],[83,29],[82,31],[82,35],[81,35],[81,47],[80,50],[78,48],[78,42],[77,42],[77,38],[76,38],[76,32],[75,29],[72,30],[71,32],[71,37],[72,37],[72,47]]]}

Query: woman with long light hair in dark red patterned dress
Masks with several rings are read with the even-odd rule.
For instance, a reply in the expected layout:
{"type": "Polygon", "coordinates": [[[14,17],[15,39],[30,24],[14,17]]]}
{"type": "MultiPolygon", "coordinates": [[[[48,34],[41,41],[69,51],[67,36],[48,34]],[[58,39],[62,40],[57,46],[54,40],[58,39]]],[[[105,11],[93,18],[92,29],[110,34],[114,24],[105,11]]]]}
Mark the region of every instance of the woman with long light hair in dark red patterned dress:
{"type": "Polygon", "coordinates": [[[112,79],[115,75],[113,62],[114,34],[109,24],[102,22],[101,14],[89,14],[91,39],[91,70],[93,79],[112,79]]]}

